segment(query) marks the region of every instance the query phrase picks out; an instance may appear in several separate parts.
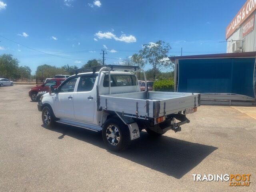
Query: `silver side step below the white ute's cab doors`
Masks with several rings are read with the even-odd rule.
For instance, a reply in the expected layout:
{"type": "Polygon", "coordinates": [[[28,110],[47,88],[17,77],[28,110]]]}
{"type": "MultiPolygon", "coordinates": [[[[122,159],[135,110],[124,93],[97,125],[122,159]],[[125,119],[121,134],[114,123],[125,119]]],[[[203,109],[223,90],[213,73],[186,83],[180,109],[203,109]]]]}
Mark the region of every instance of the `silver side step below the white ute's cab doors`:
{"type": "Polygon", "coordinates": [[[67,119],[63,119],[63,118],[60,118],[60,120],[58,120],[56,122],[66,124],[66,125],[75,126],[75,127],[80,127],[80,128],[84,128],[84,129],[88,129],[88,130],[95,131],[95,132],[99,132],[99,131],[102,130],[101,126],[97,126],[97,125],[93,125],[93,124],[87,124],[87,123],[79,122],[79,121],[67,120],[67,119]]]}

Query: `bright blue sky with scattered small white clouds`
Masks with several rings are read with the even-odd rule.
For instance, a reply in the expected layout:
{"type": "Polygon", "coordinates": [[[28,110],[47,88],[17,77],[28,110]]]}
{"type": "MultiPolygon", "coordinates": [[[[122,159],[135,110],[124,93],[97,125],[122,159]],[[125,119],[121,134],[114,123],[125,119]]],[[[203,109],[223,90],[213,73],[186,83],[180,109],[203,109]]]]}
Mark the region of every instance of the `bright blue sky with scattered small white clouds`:
{"type": "Polygon", "coordinates": [[[183,55],[222,53],[226,26],[245,2],[0,0],[0,54],[13,54],[34,73],[41,64],[80,67],[101,58],[103,48],[106,64],[118,64],[157,40],[170,44],[169,55],[181,47],[183,55]]]}

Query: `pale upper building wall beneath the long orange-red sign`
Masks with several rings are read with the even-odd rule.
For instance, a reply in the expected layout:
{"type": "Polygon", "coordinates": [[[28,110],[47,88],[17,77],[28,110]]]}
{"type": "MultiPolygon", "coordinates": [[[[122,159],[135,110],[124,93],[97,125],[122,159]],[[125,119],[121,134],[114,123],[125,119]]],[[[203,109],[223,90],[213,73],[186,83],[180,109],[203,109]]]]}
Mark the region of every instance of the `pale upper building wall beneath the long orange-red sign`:
{"type": "Polygon", "coordinates": [[[254,15],[254,29],[243,37],[242,29],[246,22],[250,19],[250,17],[248,17],[248,19],[245,20],[227,39],[227,53],[232,53],[232,44],[236,42],[234,40],[242,40],[243,52],[256,51],[256,11],[254,11],[252,15],[254,15]]]}

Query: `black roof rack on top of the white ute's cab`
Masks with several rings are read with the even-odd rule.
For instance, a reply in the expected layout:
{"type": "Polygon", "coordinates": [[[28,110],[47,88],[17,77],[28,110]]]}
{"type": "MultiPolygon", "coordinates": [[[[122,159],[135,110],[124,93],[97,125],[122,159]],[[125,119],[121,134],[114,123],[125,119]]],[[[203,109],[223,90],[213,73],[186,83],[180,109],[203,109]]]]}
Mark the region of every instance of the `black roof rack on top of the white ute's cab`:
{"type": "Polygon", "coordinates": [[[95,66],[95,67],[86,67],[86,68],[80,68],[80,69],[74,69],[74,70],[68,70],[66,72],[75,72],[77,75],[78,73],[82,72],[97,72],[99,71],[102,67],[108,67],[110,70],[140,70],[139,66],[125,66],[125,65],[100,65],[100,66],[95,66]]]}

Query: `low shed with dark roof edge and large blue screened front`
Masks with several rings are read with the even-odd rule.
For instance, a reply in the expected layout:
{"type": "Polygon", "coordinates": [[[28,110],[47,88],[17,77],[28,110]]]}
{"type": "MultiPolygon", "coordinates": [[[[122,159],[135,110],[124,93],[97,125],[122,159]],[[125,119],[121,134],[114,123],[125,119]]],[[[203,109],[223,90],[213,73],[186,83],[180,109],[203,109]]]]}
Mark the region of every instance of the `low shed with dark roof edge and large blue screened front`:
{"type": "Polygon", "coordinates": [[[202,104],[253,105],[256,52],[170,57],[174,90],[201,93],[202,104]]]}

